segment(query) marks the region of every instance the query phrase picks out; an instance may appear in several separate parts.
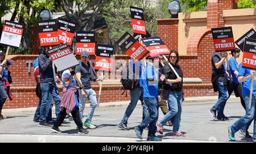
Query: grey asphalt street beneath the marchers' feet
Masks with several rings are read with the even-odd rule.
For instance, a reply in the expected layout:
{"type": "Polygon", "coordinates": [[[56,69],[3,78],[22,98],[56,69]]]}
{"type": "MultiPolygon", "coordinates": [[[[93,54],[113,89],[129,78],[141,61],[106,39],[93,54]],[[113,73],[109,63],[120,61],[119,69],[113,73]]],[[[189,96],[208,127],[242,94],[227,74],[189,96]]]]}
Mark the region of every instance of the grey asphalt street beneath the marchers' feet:
{"type": "MultiPolygon", "coordinates": [[[[229,102],[225,107],[225,115],[230,121],[212,121],[209,114],[213,104],[183,105],[181,114],[180,131],[185,137],[172,136],[172,127],[164,126],[162,142],[229,142],[228,126],[240,118],[245,111],[240,102],[229,102]]],[[[86,115],[87,109],[85,110],[86,115]]],[[[75,122],[72,119],[70,126],[62,126],[61,134],[51,131],[50,127],[38,127],[39,123],[32,121],[33,115],[17,115],[0,120],[0,142],[146,142],[147,130],[143,132],[143,140],[135,135],[134,127],[142,120],[142,108],[138,103],[137,108],[128,121],[131,130],[120,130],[117,125],[121,121],[125,109],[97,110],[94,112],[93,124],[95,130],[89,130],[89,134],[77,134],[75,122]]],[[[54,115],[53,115],[54,116],[54,115]]],[[[159,110],[159,119],[163,113],[159,110]]],[[[86,117],[84,117],[85,119],[86,117]]],[[[253,132],[253,124],[249,132],[253,132]]],[[[251,134],[253,135],[253,134],[251,134]]],[[[251,139],[241,138],[237,132],[237,142],[251,142],[251,139]]]]}

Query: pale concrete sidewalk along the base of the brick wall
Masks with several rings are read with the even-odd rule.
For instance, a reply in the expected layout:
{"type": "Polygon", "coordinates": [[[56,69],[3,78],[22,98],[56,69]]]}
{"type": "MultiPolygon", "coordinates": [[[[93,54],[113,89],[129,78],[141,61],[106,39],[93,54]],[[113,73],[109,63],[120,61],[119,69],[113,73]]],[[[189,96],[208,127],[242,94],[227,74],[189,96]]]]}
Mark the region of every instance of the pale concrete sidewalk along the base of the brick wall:
{"type": "MultiPolygon", "coordinates": [[[[201,105],[201,104],[215,104],[218,100],[218,96],[205,96],[205,97],[187,97],[183,102],[183,105],[201,105]]],[[[104,102],[100,104],[96,110],[113,110],[113,109],[126,109],[130,101],[118,101],[118,102],[104,102]]],[[[230,96],[228,102],[240,102],[240,98],[236,96],[230,96]]],[[[137,104],[137,108],[141,108],[141,102],[137,104]]],[[[89,104],[85,105],[85,112],[87,112],[89,104]]],[[[3,109],[4,115],[33,115],[36,107],[34,108],[15,108],[15,109],[3,109]]],[[[55,106],[53,106],[52,113],[55,113],[55,106]]]]}

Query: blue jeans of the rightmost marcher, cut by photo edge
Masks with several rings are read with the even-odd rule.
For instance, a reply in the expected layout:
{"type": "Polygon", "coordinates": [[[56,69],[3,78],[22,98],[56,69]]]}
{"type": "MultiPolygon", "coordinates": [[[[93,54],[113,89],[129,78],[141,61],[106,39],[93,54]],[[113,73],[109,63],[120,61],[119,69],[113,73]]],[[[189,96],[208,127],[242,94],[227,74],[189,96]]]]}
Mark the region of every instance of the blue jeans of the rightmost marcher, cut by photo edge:
{"type": "MultiPolygon", "coordinates": [[[[255,112],[255,97],[256,95],[253,95],[253,98],[251,99],[251,109],[249,109],[249,95],[243,96],[243,99],[245,100],[246,105],[246,114],[238,119],[233,125],[230,127],[232,132],[237,132],[238,130],[242,129],[242,127],[246,127],[246,130],[249,128],[251,122],[254,119],[254,131],[253,131],[253,139],[256,139],[256,112],[255,112]]],[[[244,128],[243,128],[244,129],[244,128]]]]}

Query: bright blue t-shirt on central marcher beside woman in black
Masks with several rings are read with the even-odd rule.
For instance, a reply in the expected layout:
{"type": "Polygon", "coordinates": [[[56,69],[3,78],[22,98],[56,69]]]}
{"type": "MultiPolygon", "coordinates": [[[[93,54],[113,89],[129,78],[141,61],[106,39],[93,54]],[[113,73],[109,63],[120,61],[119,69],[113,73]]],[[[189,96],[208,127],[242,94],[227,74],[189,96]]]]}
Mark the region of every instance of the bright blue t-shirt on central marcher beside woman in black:
{"type": "Polygon", "coordinates": [[[154,70],[154,67],[147,65],[142,73],[141,80],[144,88],[143,97],[158,99],[158,73],[154,70]],[[148,81],[148,79],[154,79],[154,81],[148,81]]]}

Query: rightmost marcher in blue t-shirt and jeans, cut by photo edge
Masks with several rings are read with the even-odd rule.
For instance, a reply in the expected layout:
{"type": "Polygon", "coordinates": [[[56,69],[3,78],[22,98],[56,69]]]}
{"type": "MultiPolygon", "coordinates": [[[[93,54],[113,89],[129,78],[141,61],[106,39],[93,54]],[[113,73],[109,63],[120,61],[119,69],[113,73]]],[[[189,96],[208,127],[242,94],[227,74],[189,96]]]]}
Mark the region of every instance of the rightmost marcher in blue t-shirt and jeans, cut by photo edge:
{"type": "Polygon", "coordinates": [[[249,98],[250,98],[250,87],[251,87],[251,79],[255,78],[255,70],[245,69],[242,65],[239,66],[238,69],[238,82],[242,83],[242,96],[243,100],[245,100],[246,106],[246,114],[238,119],[238,121],[234,122],[232,126],[228,127],[228,135],[231,141],[236,141],[235,133],[242,129],[242,127],[246,127],[246,138],[250,138],[249,126],[254,119],[254,131],[253,131],[253,142],[256,142],[256,112],[255,112],[255,103],[256,103],[256,82],[253,84],[253,95],[251,99],[251,109],[249,106],[249,98]]]}

